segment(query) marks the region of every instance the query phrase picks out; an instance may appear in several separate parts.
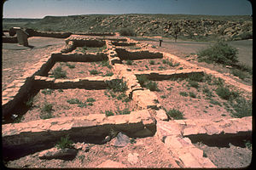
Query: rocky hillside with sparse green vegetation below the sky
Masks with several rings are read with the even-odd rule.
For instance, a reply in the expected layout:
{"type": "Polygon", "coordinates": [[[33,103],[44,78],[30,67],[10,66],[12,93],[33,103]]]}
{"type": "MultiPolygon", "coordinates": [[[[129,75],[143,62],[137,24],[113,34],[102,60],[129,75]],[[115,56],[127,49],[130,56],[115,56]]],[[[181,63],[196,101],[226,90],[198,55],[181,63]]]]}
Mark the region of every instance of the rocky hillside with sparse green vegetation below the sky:
{"type": "Polygon", "coordinates": [[[87,14],[46,16],[42,20],[15,20],[14,24],[9,19],[3,20],[3,29],[12,26],[40,31],[119,31],[124,36],[178,37],[196,41],[241,40],[253,37],[252,17],[242,15],[87,14]],[[178,32],[175,27],[179,28],[178,32]]]}

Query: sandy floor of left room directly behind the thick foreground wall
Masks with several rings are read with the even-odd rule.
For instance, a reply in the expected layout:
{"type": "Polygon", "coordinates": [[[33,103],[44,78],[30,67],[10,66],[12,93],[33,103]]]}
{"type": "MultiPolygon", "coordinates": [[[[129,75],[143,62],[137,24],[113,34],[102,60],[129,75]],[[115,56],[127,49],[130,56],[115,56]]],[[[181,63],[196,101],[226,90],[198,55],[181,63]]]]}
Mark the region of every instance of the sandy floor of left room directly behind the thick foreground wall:
{"type": "MultiPolygon", "coordinates": [[[[29,122],[40,119],[40,114],[45,104],[52,104],[53,111],[51,111],[52,116],[87,116],[90,114],[105,114],[105,111],[123,111],[128,109],[129,111],[136,111],[136,104],[134,101],[122,101],[123,99],[117,99],[120,93],[115,93],[116,97],[111,97],[112,91],[107,89],[103,90],[85,90],[85,89],[55,89],[48,90],[51,94],[43,94],[46,89],[42,89],[33,98],[33,106],[31,110],[27,111],[26,114],[21,119],[21,122],[29,122]],[[96,101],[86,102],[87,104],[92,103],[92,105],[86,105],[79,107],[79,104],[70,104],[67,100],[79,99],[83,104],[89,99],[93,98],[96,101]],[[106,107],[108,105],[108,107],[106,107]]],[[[125,98],[124,98],[125,99],[125,98]]]]}

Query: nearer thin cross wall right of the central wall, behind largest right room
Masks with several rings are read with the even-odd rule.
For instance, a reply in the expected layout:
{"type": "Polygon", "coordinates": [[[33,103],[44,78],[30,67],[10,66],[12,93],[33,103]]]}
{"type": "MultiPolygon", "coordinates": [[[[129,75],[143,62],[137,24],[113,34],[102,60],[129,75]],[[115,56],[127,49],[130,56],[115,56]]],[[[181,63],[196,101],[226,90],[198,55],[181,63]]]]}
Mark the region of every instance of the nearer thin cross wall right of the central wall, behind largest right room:
{"type": "Polygon", "coordinates": [[[176,77],[189,77],[191,74],[204,74],[200,69],[166,70],[166,71],[133,71],[136,76],[145,75],[150,80],[167,80],[176,77]]]}

